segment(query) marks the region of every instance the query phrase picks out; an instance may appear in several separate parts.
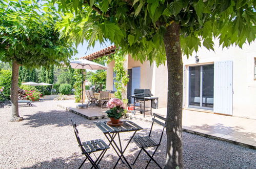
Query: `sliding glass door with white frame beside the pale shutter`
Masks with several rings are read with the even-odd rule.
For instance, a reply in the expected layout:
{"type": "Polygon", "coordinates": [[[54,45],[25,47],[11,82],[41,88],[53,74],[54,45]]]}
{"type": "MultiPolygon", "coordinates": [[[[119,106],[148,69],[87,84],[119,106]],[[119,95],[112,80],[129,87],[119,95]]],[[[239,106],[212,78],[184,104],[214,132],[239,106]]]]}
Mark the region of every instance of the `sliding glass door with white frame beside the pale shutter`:
{"type": "Polygon", "coordinates": [[[213,67],[189,67],[189,107],[213,110],[213,67]]]}

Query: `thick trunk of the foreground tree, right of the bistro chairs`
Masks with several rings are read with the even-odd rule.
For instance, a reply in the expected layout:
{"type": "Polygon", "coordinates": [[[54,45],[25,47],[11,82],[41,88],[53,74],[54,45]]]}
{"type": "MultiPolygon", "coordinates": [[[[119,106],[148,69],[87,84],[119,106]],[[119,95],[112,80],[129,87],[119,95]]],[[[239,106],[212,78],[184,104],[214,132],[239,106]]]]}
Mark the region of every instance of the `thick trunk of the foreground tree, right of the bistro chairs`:
{"type": "Polygon", "coordinates": [[[182,157],[182,97],[183,62],[180,46],[180,25],[172,23],[167,27],[164,44],[168,69],[167,100],[167,154],[165,168],[183,168],[182,157]]]}

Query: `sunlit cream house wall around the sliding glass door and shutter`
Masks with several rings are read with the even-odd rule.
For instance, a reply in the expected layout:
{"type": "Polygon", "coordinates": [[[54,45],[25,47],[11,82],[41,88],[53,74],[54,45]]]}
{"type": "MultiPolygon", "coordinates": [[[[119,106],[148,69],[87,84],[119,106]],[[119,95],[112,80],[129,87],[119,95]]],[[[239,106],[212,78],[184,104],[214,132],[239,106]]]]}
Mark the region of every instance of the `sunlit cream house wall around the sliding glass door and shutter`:
{"type": "MultiPolygon", "coordinates": [[[[215,44],[219,44],[215,41],[215,44]]],[[[237,117],[256,119],[256,80],[254,80],[254,57],[256,57],[256,43],[245,44],[243,49],[232,46],[222,49],[215,45],[215,52],[205,48],[194,53],[188,59],[183,58],[184,74],[184,106],[188,107],[188,67],[192,65],[213,64],[214,61],[233,61],[233,111],[237,117]],[[195,64],[194,56],[199,56],[199,64],[195,64]]]]}

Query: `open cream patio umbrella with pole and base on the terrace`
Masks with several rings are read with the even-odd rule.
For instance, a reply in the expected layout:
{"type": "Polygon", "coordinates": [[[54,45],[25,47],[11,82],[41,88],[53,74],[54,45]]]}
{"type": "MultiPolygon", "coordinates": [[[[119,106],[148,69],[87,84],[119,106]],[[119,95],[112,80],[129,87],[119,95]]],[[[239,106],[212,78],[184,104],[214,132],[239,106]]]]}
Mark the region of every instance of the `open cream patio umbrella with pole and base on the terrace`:
{"type": "MultiPolygon", "coordinates": [[[[89,69],[89,70],[107,70],[107,67],[97,64],[93,61],[87,59],[78,59],[70,61],[70,66],[73,69],[89,69]]],[[[78,107],[85,107],[87,105],[84,103],[84,71],[82,71],[82,104],[79,104],[78,107]]]]}

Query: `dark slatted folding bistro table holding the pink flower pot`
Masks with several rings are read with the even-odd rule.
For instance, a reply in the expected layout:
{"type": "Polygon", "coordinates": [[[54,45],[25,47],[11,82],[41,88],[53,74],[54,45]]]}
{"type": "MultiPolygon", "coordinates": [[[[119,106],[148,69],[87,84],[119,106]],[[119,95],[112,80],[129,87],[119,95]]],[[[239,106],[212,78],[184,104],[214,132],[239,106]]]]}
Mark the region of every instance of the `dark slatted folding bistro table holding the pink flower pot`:
{"type": "MultiPolygon", "coordinates": [[[[124,121],[124,123],[121,126],[109,126],[107,124],[107,121],[94,122],[94,123],[104,133],[104,135],[106,136],[106,138],[109,141],[109,145],[112,145],[115,153],[117,154],[117,156],[119,156],[119,159],[116,161],[113,168],[116,167],[116,165],[118,164],[120,159],[122,160],[122,157],[125,160],[128,167],[132,168],[131,165],[129,164],[129,162],[127,161],[127,159],[125,158],[124,152],[127,149],[132,138],[134,137],[135,133],[139,130],[142,130],[143,128],[141,128],[141,126],[135,124],[134,122],[128,121],[128,120],[124,121]],[[122,133],[122,132],[134,132],[124,149],[122,148],[122,143],[121,143],[121,139],[120,139],[120,133],[122,133]],[[119,140],[119,145],[117,145],[117,143],[114,141],[114,138],[116,135],[119,140]]],[[[123,160],[122,160],[122,162],[124,163],[123,160]]]]}

